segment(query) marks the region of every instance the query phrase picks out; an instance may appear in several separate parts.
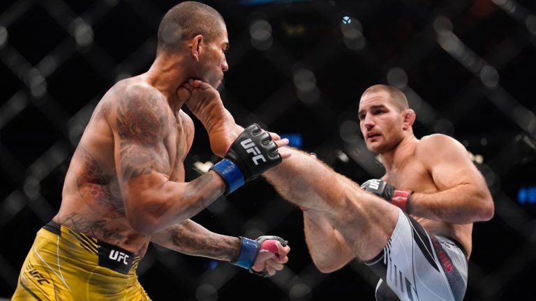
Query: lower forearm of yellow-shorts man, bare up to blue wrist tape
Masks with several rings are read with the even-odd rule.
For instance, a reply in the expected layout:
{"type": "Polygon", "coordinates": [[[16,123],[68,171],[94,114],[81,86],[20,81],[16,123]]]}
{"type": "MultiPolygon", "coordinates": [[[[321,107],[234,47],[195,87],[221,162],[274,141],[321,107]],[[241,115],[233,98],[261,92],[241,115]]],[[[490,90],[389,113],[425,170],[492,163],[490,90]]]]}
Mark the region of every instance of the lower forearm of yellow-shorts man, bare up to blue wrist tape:
{"type": "Polygon", "coordinates": [[[155,233],[151,242],[184,254],[220,261],[234,261],[240,252],[239,238],[211,232],[191,219],[155,233]]]}

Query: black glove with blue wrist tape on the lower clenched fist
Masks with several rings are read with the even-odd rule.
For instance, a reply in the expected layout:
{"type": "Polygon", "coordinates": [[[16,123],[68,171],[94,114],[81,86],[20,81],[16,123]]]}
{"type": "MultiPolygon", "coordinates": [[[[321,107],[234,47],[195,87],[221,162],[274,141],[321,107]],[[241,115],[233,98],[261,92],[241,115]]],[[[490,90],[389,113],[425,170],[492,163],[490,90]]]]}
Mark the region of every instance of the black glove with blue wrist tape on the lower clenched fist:
{"type": "Polygon", "coordinates": [[[251,240],[249,238],[244,238],[240,236],[240,254],[237,260],[232,261],[231,263],[234,265],[238,265],[242,268],[246,268],[249,270],[249,272],[255,275],[259,275],[261,277],[269,277],[266,270],[257,272],[253,270],[252,267],[255,263],[255,260],[257,260],[257,256],[260,250],[267,250],[268,252],[277,254],[278,247],[276,245],[276,241],[281,242],[281,245],[283,245],[283,247],[288,244],[287,240],[284,240],[279,236],[259,236],[256,240],[251,240]]]}

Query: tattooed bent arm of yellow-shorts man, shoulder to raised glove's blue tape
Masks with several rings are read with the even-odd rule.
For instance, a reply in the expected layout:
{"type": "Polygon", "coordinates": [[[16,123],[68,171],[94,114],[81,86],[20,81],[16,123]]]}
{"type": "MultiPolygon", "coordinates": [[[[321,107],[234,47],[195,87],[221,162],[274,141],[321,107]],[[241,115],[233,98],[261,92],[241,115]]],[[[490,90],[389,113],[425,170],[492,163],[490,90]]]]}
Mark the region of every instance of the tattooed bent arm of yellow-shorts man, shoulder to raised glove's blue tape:
{"type": "Polygon", "coordinates": [[[214,171],[189,183],[169,179],[170,157],[165,141],[177,121],[168,102],[155,88],[126,88],[117,106],[114,155],[126,218],[133,229],[151,235],[184,221],[209,206],[225,190],[214,171]]]}

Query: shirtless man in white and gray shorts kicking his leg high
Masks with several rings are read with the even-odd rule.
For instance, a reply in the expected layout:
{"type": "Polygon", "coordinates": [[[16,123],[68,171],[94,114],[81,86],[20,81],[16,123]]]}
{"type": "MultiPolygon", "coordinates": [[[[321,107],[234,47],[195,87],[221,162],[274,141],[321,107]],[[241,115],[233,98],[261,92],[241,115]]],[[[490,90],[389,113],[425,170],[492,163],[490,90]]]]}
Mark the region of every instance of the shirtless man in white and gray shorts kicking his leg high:
{"type": "Polygon", "coordinates": [[[264,173],[304,209],[313,262],[332,272],[364,261],[380,276],[377,300],[463,300],[472,223],[493,217],[484,177],[458,141],[414,136],[415,111],[399,89],[368,88],[358,117],[366,146],[385,167],[381,179],[359,187],[292,149],[264,173]]]}

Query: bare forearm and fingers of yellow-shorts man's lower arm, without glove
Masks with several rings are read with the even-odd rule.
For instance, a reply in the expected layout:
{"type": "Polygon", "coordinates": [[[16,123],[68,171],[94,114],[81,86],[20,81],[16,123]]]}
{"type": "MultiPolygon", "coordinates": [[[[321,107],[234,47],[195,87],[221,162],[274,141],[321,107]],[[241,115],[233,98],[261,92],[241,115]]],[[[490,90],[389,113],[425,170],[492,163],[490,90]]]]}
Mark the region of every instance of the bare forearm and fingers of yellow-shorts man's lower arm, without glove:
{"type": "MultiPolygon", "coordinates": [[[[184,254],[219,261],[237,261],[241,253],[240,238],[211,232],[191,219],[155,233],[151,236],[151,242],[184,254]]],[[[290,247],[283,246],[278,241],[275,246],[277,249],[260,250],[251,268],[257,272],[266,270],[269,275],[282,270],[283,264],[288,261],[290,247]]]]}

